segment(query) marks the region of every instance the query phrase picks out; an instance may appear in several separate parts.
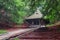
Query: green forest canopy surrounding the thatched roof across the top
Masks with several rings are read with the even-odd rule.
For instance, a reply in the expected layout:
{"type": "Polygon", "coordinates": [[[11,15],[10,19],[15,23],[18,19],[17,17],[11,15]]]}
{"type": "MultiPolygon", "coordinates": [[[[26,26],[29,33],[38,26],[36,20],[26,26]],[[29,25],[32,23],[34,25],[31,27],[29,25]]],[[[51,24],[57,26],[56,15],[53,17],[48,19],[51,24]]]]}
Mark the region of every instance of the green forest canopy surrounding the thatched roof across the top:
{"type": "Polygon", "coordinates": [[[60,0],[0,0],[0,17],[7,22],[20,24],[24,17],[32,15],[37,8],[50,23],[60,20],[60,0]]]}

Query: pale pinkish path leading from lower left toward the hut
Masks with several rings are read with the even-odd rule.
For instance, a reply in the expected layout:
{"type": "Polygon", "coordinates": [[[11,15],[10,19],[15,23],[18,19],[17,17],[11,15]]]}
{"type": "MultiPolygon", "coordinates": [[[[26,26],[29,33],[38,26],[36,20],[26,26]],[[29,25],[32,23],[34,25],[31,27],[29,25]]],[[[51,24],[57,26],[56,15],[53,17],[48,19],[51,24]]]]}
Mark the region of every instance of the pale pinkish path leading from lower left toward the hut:
{"type": "Polygon", "coordinates": [[[3,34],[0,36],[0,40],[5,40],[9,37],[15,36],[15,35],[20,35],[23,34],[24,32],[30,31],[31,29],[18,29],[15,31],[8,32],[6,34],[3,34]]]}

